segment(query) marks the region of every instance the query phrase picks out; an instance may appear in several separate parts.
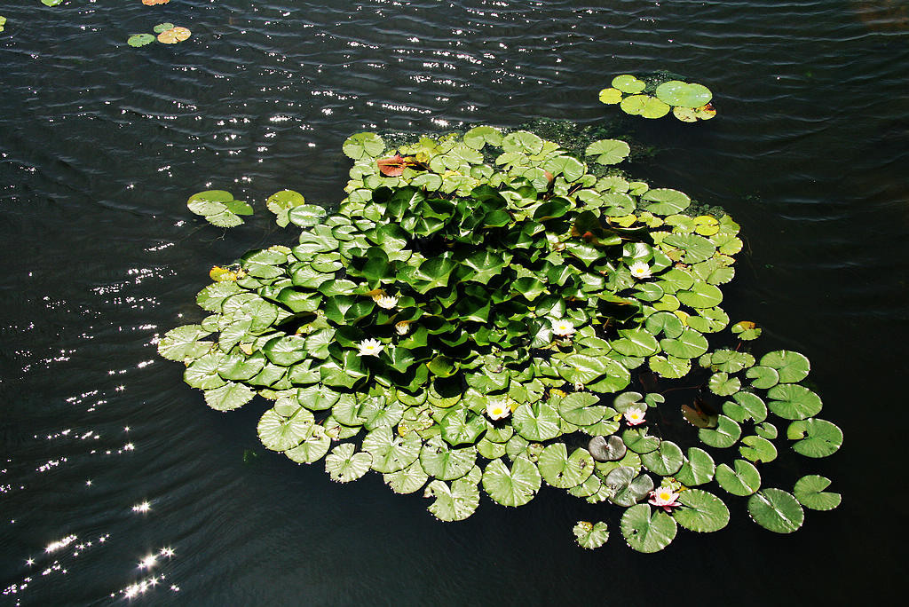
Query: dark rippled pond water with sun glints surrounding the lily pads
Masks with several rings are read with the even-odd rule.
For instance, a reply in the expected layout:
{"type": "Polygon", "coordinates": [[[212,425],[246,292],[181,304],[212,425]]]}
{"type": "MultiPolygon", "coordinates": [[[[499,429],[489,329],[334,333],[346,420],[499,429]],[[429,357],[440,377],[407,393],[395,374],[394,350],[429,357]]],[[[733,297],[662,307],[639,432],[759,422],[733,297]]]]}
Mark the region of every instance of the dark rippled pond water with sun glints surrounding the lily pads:
{"type": "Polygon", "coordinates": [[[155,605],[872,601],[903,567],[909,516],[907,10],[3,3],[0,602],[114,604],[142,582],[132,601],[155,605]],[[162,21],[193,37],[125,45],[162,21]],[[764,325],[765,349],[811,358],[846,442],[804,472],[834,480],[838,510],[777,536],[730,500],[727,529],[681,532],[655,555],[624,546],[608,507],[545,490],[518,510],[484,500],[466,522],[435,522],[377,474],[337,485],[265,452],[262,405],[215,413],[156,357],[157,335],[200,317],[211,265],[289,239],[268,194],[336,204],[348,134],[591,123],[614,115],[596,100],[612,75],[661,68],[709,85],[720,117],[630,123],[659,152],[629,168],[742,224],[724,306],[764,325]],[[185,199],[209,187],[257,214],[226,234],[205,224],[185,199]],[[603,516],[612,539],[576,548],[574,522],[603,516]]]}

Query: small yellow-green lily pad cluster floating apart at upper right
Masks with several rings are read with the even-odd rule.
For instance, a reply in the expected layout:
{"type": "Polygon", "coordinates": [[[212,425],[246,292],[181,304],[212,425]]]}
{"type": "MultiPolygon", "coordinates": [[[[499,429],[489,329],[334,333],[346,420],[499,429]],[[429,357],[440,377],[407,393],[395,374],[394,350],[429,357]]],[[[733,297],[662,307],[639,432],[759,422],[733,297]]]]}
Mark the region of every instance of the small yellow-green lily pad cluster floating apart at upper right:
{"type": "Polygon", "coordinates": [[[600,91],[602,103],[619,104],[625,114],[662,118],[672,112],[685,123],[713,118],[713,97],[709,88],[697,83],[661,76],[642,80],[630,74],[615,76],[612,85],[600,91]]]}

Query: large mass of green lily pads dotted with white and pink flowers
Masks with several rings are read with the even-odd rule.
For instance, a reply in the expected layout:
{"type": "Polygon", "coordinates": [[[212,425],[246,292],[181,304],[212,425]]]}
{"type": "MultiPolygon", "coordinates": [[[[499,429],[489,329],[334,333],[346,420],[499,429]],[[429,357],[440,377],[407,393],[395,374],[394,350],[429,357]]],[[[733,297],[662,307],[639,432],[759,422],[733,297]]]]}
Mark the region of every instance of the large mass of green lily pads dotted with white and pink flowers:
{"type": "MultiPolygon", "coordinates": [[[[396,493],[422,490],[443,521],[470,516],[481,493],[515,507],[546,484],[624,509],[640,552],[678,525],[722,529],[717,492],[747,496],[774,532],[839,503],[821,476],[762,487],[776,445],[824,457],[842,433],[815,417],[803,355],[750,353],[754,323],[724,331],[720,285],[743,246],[729,215],[627,178],[620,140],[577,158],[478,126],[396,149],[355,134],[343,150],[354,165],[338,211],[271,196],[295,244],[215,267],[197,298],[209,315],[158,343],[215,410],[271,401],[267,449],[324,459],[343,483],[374,470],[396,493]],[[711,349],[721,332],[731,344],[711,349]],[[664,386],[680,378],[703,388],[667,423],[664,386]]],[[[188,204],[224,225],[248,210],[224,191],[188,204]]],[[[609,533],[600,521],[574,534],[595,548],[609,533]]]]}

